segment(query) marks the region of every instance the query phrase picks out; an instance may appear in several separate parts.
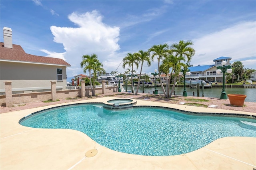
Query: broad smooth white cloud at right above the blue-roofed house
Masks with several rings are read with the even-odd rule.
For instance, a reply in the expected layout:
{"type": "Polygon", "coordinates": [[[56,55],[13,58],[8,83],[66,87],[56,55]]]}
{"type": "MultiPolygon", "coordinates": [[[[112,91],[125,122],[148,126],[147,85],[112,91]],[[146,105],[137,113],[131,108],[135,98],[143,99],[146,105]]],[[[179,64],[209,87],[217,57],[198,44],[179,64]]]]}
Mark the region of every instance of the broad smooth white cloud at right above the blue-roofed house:
{"type": "MultiPolygon", "coordinates": [[[[202,38],[192,40],[196,55],[191,64],[214,64],[213,59],[232,57],[232,61],[256,55],[256,22],[243,22],[202,38]]],[[[244,66],[245,61],[243,62],[244,66]]],[[[255,63],[255,60],[254,60],[255,63]]],[[[256,65],[254,65],[255,69],[256,65]]]]}

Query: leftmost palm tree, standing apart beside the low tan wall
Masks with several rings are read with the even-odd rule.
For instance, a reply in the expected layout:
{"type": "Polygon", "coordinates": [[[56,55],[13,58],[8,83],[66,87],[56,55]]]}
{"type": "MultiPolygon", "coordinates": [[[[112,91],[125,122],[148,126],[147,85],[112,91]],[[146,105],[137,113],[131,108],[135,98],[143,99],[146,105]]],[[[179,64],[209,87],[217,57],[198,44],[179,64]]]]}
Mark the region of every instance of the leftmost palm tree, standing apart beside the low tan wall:
{"type": "Polygon", "coordinates": [[[94,91],[92,89],[92,76],[91,76],[91,71],[92,71],[92,65],[94,63],[99,63],[100,61],[98,60],[98,56],[96,54],[92,55],[83,55],[82,56],[82,61],[80,63],[81,68],[84,67],[84,73],[86,73],[86,70],[89,70],[89,77],[90,77],[90,86],[91,86],[91,91],[92,91],[92,96],[94,96],[94,91]]]}

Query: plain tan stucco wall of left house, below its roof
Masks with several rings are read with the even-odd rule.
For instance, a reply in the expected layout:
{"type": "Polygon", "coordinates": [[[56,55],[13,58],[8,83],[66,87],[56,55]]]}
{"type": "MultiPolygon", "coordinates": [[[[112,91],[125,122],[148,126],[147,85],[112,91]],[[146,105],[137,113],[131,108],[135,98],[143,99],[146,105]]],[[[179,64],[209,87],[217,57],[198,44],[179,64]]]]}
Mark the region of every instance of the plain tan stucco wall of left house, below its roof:
{"type": "Polygon", "coordinates": [[[63,81],[56,86],[66,87],[66,67],[29,63],[0,62],[0,89],[4,89],[4,81],[12,81],[12,88],[49,87],[50,81],[57,80],[57,68],[62,68],[63,81]]]}

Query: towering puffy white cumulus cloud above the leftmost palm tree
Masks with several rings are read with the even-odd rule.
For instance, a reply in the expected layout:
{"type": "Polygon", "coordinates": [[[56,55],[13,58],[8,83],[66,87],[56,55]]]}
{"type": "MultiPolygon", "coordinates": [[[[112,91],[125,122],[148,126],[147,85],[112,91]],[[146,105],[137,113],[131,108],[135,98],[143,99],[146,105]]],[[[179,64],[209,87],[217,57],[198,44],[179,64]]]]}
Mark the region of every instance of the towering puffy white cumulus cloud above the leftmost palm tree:
{"type": "MultiPolygon", "coordinates": [[[[106,71],[114,71],[124,57],[122,53],[116,53],[120,49],[118,45],[120,29],[104,24],[103,17],[96,10],[84,14],[73,12],[68,18],[78,27],[50,27],[54,35],[54,42],[64,45],[65,59],[72,65],[67,71],[68,76],[83,73],[80,68],[82,55],[91,55],[92,53],[98,55],[98,59],[103,63],[106,71]]],[[[58,56],[59,54],[52,53],[52,55],[58,56]]]]}

